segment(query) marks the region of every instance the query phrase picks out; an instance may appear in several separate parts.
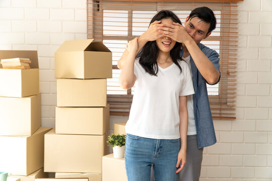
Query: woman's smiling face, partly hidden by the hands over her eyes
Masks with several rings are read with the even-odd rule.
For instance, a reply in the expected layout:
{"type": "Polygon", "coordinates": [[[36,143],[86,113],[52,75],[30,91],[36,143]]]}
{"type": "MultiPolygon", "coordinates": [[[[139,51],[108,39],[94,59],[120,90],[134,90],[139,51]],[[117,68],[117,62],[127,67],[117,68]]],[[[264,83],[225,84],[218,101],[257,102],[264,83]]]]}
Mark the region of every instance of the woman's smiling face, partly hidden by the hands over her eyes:
{"type": "MultiPolygon", "coordinates": [[[[171,18],[162,19],[161,21],[162,21],[161,24],[168,24],[168,25],[173,24],[173,20],[171,18]]],[[[172,38],[161,37],[158,40],[156,40],[156,43],[160,51],[170,52],[175,46],[176,41],[173,40],[172,38]]]]}

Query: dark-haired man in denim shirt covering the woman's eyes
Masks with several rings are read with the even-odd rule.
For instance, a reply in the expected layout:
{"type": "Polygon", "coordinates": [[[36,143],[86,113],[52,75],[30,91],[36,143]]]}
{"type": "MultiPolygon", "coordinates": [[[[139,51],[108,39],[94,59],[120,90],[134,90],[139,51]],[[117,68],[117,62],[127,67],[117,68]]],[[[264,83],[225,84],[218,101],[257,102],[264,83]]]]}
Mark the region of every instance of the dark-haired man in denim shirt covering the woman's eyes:
{"type": "MultiPolygon", "coordinates": [[[[184,26],[152,23],[149,29],[138,39],[138,52],[148,41],[155,41],[163,36],[182,43],[180,55],[186,61],[192,73],[194,95],[187,98],[188,133],[186,164],[179,173],[179,180],[199,180],[203,147],[216,143],[215,130],[208,99],[208,84],[220,80],[219,55],[200,43],[211,35],[216,27],[216,18],[211,9],[200,7],[194,9],[186,18],[184,26]]],[[[118,61],[122,69],[128,51],[125,50],[118,61]]]]}

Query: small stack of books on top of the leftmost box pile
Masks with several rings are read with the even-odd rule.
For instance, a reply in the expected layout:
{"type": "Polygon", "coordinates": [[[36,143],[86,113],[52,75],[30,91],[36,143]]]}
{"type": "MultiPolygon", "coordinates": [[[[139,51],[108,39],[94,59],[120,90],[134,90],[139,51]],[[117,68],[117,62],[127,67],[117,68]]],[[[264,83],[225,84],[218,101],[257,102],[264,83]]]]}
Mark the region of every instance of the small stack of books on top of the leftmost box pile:
{"type": "Polygon", "coordinates": [[[31,63],[29,58],[9,58],[2,59],[1,64],[5,69],[28,69],[31,63]]]}

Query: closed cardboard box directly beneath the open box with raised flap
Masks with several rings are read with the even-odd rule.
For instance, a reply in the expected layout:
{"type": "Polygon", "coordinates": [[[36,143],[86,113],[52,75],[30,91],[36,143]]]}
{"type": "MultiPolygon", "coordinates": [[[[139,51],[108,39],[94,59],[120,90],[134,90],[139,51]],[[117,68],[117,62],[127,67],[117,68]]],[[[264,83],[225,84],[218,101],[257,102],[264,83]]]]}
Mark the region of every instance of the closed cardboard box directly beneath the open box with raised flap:
{"type": "Polygon", "coordinates": [[[106,107],[106,79],[57,79],[57,107],[106,107]]]}

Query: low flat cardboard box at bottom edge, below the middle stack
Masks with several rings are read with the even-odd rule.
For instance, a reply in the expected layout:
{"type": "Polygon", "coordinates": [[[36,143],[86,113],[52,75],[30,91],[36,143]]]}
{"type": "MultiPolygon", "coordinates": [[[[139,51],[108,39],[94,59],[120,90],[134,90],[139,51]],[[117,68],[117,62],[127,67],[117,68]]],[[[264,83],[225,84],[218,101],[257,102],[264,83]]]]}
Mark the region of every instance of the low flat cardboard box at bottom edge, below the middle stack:
{"type": "Polygon", "coordinates": [[[89,181],[102,181],[100,173],[55,173],[56,178],[89,178],[89,181]]]}

